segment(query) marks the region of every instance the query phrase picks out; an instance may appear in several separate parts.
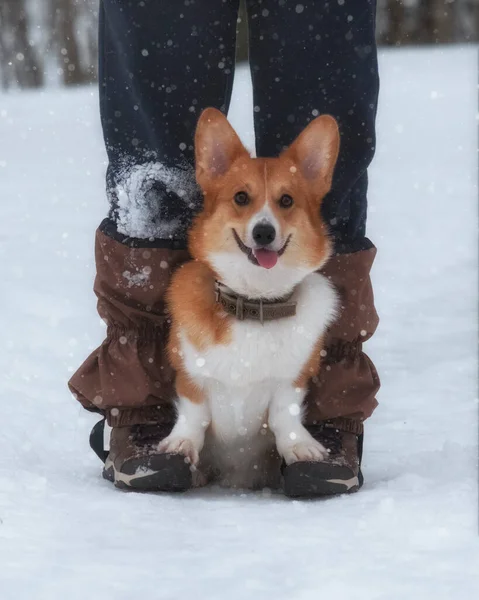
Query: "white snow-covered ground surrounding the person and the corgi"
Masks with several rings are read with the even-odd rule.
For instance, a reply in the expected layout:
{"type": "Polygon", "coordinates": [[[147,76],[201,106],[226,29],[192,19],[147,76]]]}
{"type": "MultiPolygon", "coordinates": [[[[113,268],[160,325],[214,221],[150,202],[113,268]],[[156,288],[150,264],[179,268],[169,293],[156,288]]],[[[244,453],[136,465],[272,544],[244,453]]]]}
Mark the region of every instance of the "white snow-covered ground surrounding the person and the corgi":
{"type": "MultiPolygon", "coordinates": [[[[477,49],[381,54],[369,236],[382,375],[363,490],[127,494],[66,381],[100,342],[94,90],[0,96],[1,600],[479,597],[477,49]]],[[[232,120],[251,140],[248,78],[232,120]]]]}

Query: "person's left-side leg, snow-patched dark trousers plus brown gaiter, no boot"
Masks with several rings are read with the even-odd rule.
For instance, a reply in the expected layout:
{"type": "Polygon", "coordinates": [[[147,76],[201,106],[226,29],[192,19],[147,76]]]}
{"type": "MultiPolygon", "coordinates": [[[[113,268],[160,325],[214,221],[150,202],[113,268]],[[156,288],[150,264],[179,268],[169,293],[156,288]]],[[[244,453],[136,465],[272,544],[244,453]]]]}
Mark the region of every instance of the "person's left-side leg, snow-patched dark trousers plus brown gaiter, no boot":
{"type": "Polygon", "coordinates": [[[106,415],[116,455],[138,453],[142,442],[148,454],[172,425],[163,296],[188,257],[186,230],[201,202],[193,166],[198,115],[208,106],[226,111],[230,101],[237,13],[238,0],[100,3],[111,210],[96,235],[94,289],[108,328],[69,386],[85,408],[106,415]],[[133,441],[117,435],[116,428],[144,424],[157,430],[138,430],[133,441]]]}

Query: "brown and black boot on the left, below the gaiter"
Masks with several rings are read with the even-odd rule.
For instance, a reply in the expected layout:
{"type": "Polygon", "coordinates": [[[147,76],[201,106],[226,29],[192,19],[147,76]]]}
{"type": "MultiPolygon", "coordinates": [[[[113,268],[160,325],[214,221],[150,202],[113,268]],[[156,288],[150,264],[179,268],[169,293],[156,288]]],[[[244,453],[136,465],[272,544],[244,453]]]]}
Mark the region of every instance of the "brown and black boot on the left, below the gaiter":
{"type": "Polygon", "coordinates": [[[178,454],[160,454],[171,425],[113,427],[103,477],[137,491],[184,492],[192,487],[190,466],[178,454]]]}

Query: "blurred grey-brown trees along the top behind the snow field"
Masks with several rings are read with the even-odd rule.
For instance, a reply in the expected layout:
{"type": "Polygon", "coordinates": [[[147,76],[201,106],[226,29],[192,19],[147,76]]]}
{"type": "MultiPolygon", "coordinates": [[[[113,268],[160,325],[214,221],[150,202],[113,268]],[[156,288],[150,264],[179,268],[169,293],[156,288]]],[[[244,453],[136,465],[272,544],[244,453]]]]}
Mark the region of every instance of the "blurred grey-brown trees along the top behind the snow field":
{"type": "MultiPolygon", "coordinates": [[[[1,87],[95,81],[98,2],[0,0],[1,87]]],[[[377,37],[388,46],[478,42],[479,0],[378,0],[377,37]]],[[[246,58],[242,7],[238,59],[246,58]]]]}

